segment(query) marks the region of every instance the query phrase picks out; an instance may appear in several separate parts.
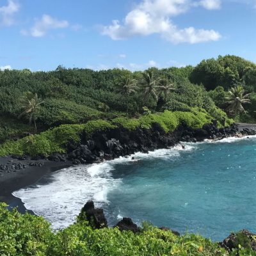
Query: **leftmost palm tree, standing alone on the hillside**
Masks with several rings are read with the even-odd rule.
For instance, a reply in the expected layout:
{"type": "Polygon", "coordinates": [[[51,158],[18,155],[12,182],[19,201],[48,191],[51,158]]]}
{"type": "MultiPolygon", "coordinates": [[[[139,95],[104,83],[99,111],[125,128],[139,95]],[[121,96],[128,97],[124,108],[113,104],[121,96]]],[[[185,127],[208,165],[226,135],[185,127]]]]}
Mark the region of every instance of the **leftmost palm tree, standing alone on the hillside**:
{"type": "Polygon", "coordinates": [[[40,105],[43,102],[39,102],[37,93],[26,92],[24,93],[23,97],[20,99],[21,108],[24,109],[22,113],[20,113],[18,118],[22,116],[28,115],[29,116],[29,125],[32,122],[35,125],[35,132],[36,132],[36,113],[38,109],[40,109],[40,105]]]}

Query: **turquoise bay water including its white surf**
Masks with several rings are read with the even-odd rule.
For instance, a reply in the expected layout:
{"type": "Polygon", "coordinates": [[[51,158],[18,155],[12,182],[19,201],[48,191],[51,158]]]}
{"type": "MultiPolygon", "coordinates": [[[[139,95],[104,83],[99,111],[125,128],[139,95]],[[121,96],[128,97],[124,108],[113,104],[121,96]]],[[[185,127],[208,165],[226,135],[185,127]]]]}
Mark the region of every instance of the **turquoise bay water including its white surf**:
{"type": "Polygon", "coordinates": [[[77,166],[14,193],[54,228],[76,219],[88,199],[109,224],[123,216],[222,240],[256,232],[256,138],[186,144],[108,163],[77,166]]]}

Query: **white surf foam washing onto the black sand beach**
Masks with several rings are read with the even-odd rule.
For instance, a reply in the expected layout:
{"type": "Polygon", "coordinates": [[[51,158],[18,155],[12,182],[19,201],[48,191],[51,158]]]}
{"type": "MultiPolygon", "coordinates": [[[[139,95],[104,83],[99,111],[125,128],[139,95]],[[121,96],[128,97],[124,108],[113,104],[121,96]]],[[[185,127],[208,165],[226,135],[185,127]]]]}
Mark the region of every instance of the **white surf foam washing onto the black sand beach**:
{"type": "MultiPolygon", "coordinates": [[[[122,184],[121,179],[113,179],[111,170],[115,164],[131,163],[152,157],[179,157],[180,152],[193,150],[196,145],[184,143],[185,148],[177,145],[173,148],[159,149],[144,154],[138,152],[129,157],[119,157],[100,164],[79,165],[51,173],[46,184],[36,184],[13,192],[19,197],[26,209],[44,216],[54,229],[67,227],[74,223],[77,214],[88,200],[93,200],[97,207],[108,204],[108,193],[122,184]],[[132,159],[134,157],[134,159],[132,159]]],[[[47,179],[48,178],[48,179],[47,179]]],[[[119,217],[122,216],[120,212],[119,217]]]]}

